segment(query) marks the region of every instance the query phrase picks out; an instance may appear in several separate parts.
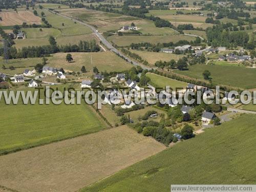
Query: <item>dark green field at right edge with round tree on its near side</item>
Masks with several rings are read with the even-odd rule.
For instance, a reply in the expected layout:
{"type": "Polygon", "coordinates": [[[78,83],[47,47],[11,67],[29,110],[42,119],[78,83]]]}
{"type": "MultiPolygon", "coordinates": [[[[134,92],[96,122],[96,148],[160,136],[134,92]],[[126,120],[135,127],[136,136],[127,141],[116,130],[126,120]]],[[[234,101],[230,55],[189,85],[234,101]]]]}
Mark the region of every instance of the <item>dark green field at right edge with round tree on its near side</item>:
{"type": "Polygon", "coordinates": [[[256,69],[219,65],[194,65],[188,66],[188,70],[175,70],[174,72],[196,79],[203,79],[202,74],[204,70],[209,70],[212,82],[218,84],[242,89],[252,89],[256,87],[256,69]]]}

